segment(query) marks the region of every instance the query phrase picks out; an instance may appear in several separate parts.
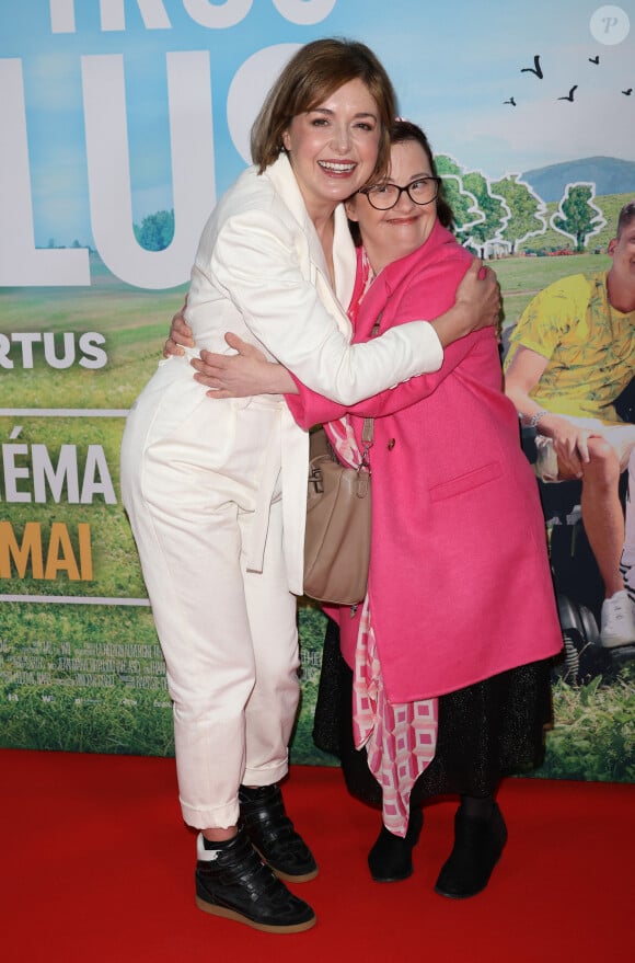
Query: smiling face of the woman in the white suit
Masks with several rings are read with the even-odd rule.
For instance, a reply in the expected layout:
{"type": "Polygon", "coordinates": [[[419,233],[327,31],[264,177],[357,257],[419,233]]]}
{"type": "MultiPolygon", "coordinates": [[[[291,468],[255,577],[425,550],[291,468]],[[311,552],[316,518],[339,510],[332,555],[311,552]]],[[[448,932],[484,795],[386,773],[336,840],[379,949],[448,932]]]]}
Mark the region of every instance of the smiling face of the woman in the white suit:
{"type": "Polygon", "coordinates": [[[377,162],[379,136],[377,103],[361,80],[350,80],[292,118],[282,144],[314,221],[330,217],[366,184],[377,162]]]}

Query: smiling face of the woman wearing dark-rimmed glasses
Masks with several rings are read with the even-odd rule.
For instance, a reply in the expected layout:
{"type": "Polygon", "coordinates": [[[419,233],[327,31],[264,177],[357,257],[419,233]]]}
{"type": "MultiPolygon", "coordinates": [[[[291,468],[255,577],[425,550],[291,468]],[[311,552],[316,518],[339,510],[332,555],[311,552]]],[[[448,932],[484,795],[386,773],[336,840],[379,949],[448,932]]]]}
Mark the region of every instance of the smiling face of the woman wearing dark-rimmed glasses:
{"type": "MultiPolygon", "coordinates": [[[[426,151],[416,140],[393,144],[390,152],[388,181],[401,187],[413,184],[434,172],[426,151]]],[[[420,248],[432,231],[437,220],[437,202],[415,204],[405,191],[390,210],[376,210],[365,194],[356,194],[347,202],[350,220],[359,225],[366,253],[376,274],[400,257],[420,248]]]]}

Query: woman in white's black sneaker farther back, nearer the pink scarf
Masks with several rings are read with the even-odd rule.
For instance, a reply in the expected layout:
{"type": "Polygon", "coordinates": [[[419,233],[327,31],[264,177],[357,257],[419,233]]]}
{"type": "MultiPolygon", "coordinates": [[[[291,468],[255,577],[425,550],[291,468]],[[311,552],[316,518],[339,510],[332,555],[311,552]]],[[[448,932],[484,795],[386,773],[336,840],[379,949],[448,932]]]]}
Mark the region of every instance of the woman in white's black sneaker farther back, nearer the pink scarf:
{"type": "Polygon", "coordinates": [[[285,812],[279,787],[241,786],[239,803],[240,826],[276,875],[292,883],[314,880],[318,864],[285,812]]]}

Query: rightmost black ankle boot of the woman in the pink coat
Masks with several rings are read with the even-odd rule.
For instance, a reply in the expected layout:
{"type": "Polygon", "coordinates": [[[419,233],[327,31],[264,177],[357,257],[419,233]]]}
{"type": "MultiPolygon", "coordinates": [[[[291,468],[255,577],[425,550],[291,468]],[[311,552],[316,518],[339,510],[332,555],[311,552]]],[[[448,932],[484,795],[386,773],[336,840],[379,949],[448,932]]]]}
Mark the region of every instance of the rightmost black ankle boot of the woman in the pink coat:
{"type": "Polygon", "coordinates": [[[454,816],[454,847],[439,873],[435,891],[451,899],[465,899],[481,893],[506,842],[507,827],[496,803],[485,818],[466,816],[459,809],[454,816]]]}

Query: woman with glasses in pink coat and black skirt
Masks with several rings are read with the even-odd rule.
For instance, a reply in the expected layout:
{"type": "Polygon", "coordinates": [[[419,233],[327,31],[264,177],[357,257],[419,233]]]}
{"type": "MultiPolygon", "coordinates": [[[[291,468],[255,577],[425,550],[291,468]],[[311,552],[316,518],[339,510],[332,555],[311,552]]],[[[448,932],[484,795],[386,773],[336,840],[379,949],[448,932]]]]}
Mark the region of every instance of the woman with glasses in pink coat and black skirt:
{"type": "MultiPolygon", "coordinates": [[[[447,229],[423,131],[399,121],[391,144],[388,176],[346,205],[361,240],[355,342],[443,311],[472,260],[447,229]]],[[[200,380],[220,397],[265,387],[272,371],[258,375],[264,366],[245,351],[242,360],[208,357],[200,380]]],[[[472,896],[507,838],[495,802],[501,776],[541,759],[550,657],[562,649],[543,515],[501,390],[496,334],[455,341],[439,371],[356,405],[280,369],[277,387],[302,427],[327,423],[347,463],[358,463],[365,419],[374,420],[368,595],[353,609],[327,608],[342,654],[332,622],[316,742],[340,756],[355,794],[382,804],[369,853],[379,882],[412,873],[423,802],[459,794],[436,890],[472,896]]]]}

